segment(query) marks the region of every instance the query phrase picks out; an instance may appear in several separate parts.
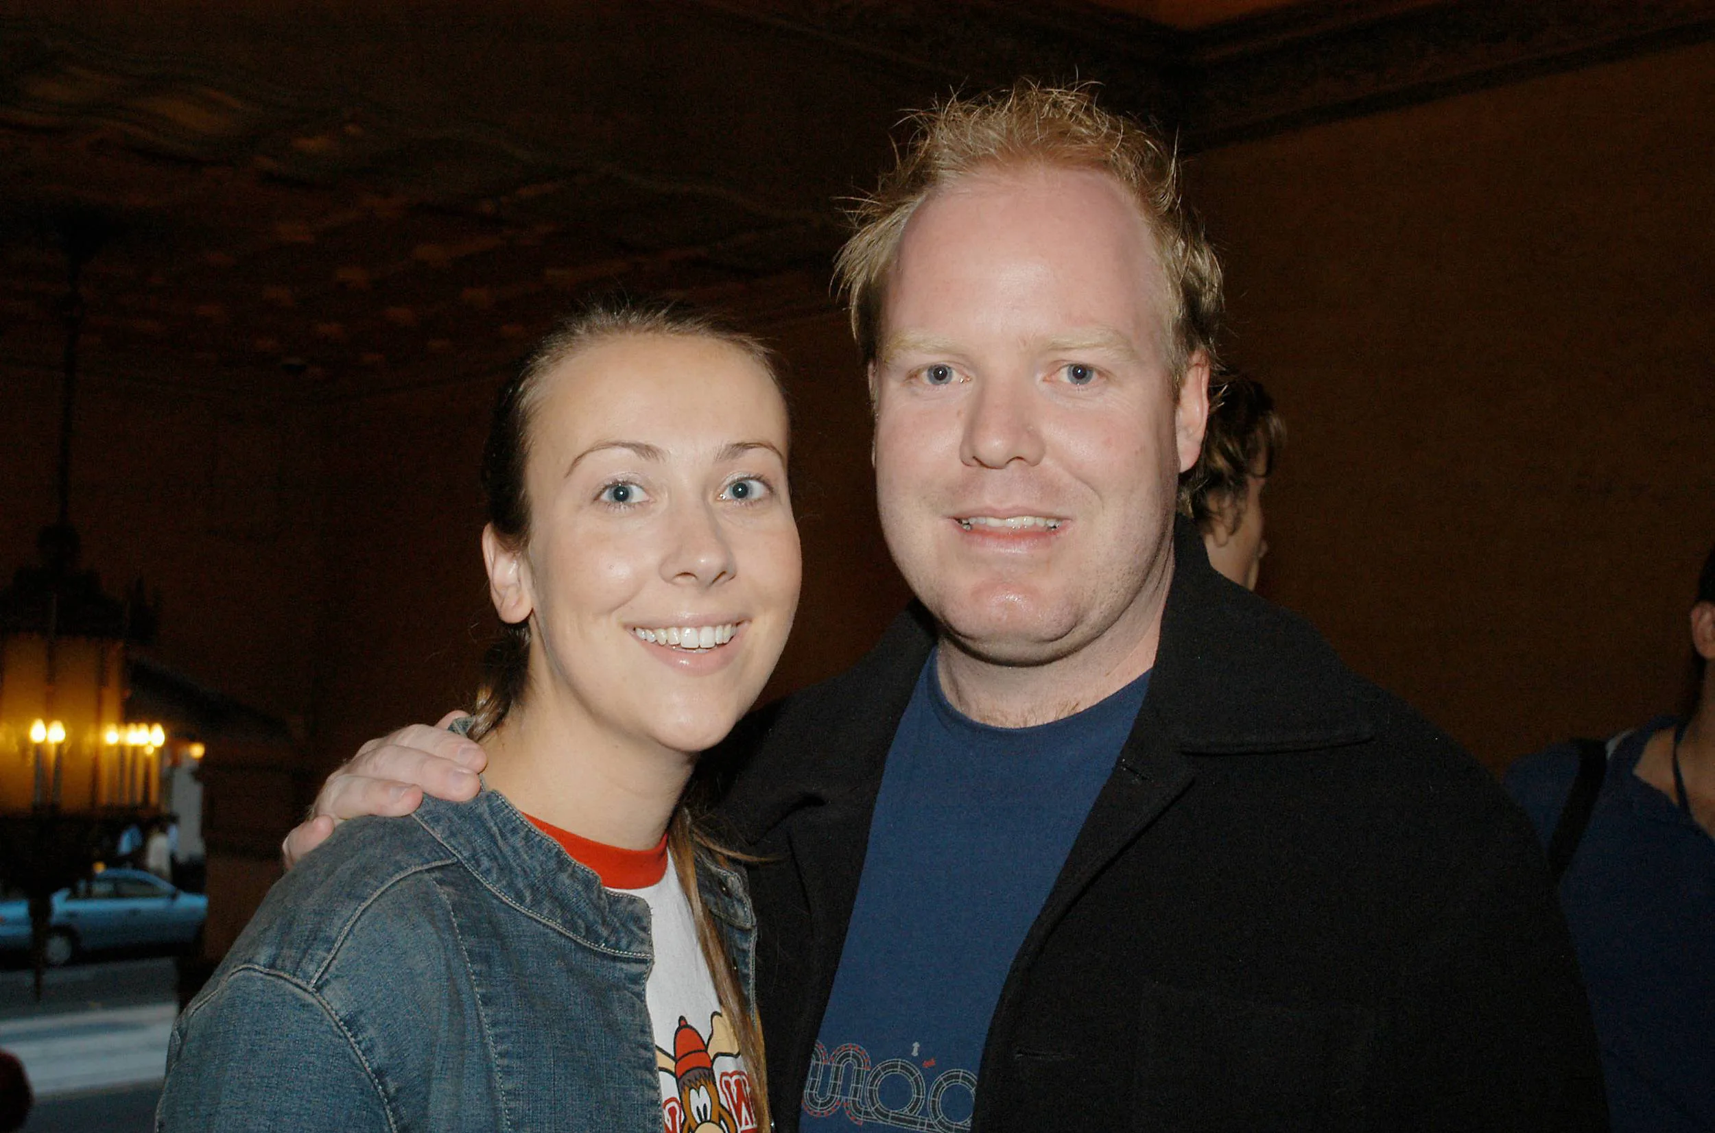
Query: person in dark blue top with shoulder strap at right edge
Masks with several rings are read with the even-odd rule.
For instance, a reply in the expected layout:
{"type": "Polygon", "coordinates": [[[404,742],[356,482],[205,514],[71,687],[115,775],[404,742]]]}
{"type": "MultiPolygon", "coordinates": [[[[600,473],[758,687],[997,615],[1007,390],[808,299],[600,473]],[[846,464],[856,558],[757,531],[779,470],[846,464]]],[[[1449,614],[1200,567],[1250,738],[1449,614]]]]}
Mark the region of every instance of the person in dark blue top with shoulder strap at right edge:
{"type": "Polygon", "coordinates": [[[1616,1133],[1715,1130],[1715,549],[1691,603],[1686,716],[1513,764],[1602,1042],[1616,1133]]]}

